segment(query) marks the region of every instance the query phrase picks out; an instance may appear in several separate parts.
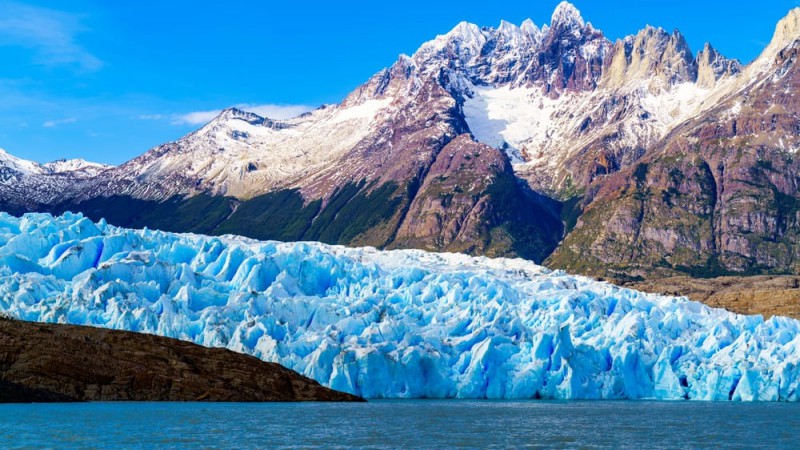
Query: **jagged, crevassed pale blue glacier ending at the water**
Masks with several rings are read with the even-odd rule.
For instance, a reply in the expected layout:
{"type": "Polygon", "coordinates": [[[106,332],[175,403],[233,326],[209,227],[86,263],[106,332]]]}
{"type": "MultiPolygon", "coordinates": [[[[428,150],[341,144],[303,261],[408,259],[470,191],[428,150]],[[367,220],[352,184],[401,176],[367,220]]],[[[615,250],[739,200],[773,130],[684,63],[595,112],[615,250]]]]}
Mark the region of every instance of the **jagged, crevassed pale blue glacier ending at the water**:
{"type": "Polygon", "coordinates": [[[0,311],[227,347],[367,398],[800,399],[800,322],[521,259],[0,213],[0,311]]]}

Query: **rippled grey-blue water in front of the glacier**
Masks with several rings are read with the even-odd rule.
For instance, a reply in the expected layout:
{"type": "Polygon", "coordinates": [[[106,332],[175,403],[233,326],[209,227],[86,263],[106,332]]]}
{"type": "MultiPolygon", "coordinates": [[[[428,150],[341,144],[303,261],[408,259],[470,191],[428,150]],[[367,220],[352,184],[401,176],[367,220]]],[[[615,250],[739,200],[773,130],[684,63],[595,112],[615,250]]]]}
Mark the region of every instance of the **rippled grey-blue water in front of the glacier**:
{"type": "Polygon", "coordinates": [[[800,448],[800,405],[373,401],[0,405],[2,448],[800,448]]]}

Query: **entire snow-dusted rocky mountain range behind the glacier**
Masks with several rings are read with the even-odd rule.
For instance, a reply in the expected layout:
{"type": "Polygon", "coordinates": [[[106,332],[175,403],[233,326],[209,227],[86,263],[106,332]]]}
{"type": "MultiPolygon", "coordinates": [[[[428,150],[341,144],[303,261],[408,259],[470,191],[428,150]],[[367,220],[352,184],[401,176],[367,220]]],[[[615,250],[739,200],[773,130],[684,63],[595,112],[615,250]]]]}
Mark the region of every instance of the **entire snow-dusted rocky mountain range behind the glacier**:
{"type": "Polygon", "coordinates": [[[612,42],[567,2],[464,22],[299,117],[228,109],[89,176],[14,160],[0,206],[627,280],[793,272],[798,15],[747,66],[677,30],[612,42]]]}

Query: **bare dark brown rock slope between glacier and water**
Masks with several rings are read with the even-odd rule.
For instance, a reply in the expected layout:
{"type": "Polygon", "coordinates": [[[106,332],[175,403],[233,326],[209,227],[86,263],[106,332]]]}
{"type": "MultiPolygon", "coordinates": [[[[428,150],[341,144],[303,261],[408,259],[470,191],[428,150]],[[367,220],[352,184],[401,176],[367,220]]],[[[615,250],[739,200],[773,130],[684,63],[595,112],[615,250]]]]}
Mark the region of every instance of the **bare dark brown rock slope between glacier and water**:
{"type": "Polygon", "coordinates": [[[279,364],[149,334],[0,319],[0,402],[359,401],[279,364]]]}

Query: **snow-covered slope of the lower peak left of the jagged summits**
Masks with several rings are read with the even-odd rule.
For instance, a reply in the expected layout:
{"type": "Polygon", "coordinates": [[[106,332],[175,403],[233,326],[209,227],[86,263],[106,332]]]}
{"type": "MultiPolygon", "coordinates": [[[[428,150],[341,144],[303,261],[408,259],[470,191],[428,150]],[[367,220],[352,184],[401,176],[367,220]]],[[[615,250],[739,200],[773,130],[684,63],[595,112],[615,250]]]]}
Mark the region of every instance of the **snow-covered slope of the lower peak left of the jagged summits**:
{"type": "Polygon", "coordinates": [[[88,192],[148,200],[198,193],[249,199],[302,185],[336,167],[369,136],[389,103],[363,99],[287,120],[228,108],[199,130],[104,173],[98,189],[88,192]]]}

